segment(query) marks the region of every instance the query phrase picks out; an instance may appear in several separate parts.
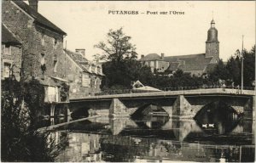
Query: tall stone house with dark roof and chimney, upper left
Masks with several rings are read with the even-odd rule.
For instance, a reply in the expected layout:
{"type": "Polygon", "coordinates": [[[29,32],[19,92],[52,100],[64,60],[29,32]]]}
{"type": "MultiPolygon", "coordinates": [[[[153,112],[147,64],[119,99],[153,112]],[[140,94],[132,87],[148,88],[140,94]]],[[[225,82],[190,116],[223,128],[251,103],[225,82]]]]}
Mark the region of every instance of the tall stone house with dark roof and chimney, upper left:
{"type": "Polygon", "coordinates": [[[61,83],[67,82],[62,79],[65,77],[63,37],[67,34],[38,13],[38,0],[28,3],[3,1],[2,22],[21,43],[25,79],[37,79],[49,95],[45,99],[50,103],[60,102],[61,83]]]}

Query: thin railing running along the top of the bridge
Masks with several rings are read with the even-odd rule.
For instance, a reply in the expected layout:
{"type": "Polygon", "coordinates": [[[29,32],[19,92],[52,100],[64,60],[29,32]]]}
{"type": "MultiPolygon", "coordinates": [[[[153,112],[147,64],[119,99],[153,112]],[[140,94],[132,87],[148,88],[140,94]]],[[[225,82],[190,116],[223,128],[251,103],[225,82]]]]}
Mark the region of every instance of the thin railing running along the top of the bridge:
{"type": "MultiPolygon", "coordinates": [[[[162,92],[170,92],[170,91],[186,91],[186,90],[196,90],[196,89],[214,89],[214,88],[222,88],[224,89],[233,89],[234,92],[241,92],[241,87],[232,87],[232,86],[201,86],[201,87],[163,87],[160,88],[162,92]]],[[[243,87],[243,90],[254,90],[255,87],[243,87]]],[[[99,95],[111,95],[111,94],[132,94],[132,93],[152,93],[155,92],[153,90],[133,90],[133,89],[117,89],[117,90],[107,90],[102,91],[101,93],[95,93],[95,96],[99,95]]]]}

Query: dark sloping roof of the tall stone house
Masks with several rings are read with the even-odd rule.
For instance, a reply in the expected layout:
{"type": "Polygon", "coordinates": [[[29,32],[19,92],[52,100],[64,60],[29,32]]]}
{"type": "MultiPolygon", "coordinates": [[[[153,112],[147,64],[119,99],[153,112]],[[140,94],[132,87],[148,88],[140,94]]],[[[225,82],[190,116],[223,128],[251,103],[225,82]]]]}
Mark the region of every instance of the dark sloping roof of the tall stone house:
{"type": "Polygon", "coordinates": [[[32,16],[35,19],[35,23],[38,25],[42,25],[44,27],[49,28],[52,31],[60,33],[61,35],[67,35],[65,31],[62,31],[59,27],[54,25],[52,22],[47,20],[42,14],[39,14],[34,9],[30,8],[28,4],[24,3],[23,1],[13,1],[16,5],[18,5],[21,9],[23,9],[27,14],[32,16]]]}

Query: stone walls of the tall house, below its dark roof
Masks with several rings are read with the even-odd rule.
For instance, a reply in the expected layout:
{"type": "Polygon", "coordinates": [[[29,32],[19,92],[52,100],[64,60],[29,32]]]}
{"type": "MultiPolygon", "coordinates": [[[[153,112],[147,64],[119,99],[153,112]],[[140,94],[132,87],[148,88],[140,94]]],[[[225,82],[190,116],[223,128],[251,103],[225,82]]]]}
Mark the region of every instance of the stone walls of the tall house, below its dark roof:
{"type": "Polygon", "coordinates": [[[42,76],[42,53],[46,61],[46,76],[63,77],[63,36],[35,25],[31,16],[26,14],[15,3],[3,1],[2,21],[22,43],[24,53],[24,71],[26,76],[42,76]],[[42,45],[42,31],[44,31],[44,45],[42,45]],[[57,46],[54,46],[54,39],[57,46]],[[57,68],[54,68],[54,59],[57,59],[57,68]]]}

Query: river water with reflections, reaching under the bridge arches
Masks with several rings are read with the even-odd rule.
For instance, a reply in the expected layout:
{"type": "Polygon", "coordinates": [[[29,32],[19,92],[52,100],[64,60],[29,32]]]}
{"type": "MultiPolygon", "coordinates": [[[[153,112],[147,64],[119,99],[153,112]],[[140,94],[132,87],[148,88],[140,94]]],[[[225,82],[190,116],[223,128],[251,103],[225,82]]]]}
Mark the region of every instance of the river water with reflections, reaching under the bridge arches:
{"type": "Polygon", "coordinates": [[[60,126],[55,132],[65,132],[69,144],[56,161],[253,161],[253,121],[224,104],[208,106],[195,120],[150,114],[160,108],[147,106],[139,119],[99,117],[60,126]]]}

